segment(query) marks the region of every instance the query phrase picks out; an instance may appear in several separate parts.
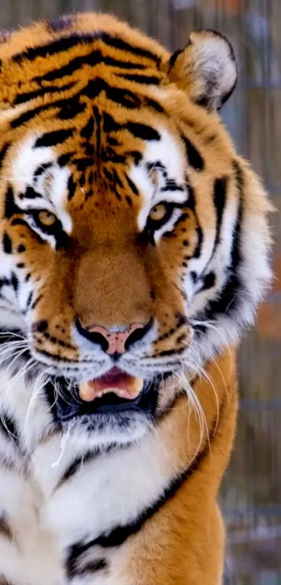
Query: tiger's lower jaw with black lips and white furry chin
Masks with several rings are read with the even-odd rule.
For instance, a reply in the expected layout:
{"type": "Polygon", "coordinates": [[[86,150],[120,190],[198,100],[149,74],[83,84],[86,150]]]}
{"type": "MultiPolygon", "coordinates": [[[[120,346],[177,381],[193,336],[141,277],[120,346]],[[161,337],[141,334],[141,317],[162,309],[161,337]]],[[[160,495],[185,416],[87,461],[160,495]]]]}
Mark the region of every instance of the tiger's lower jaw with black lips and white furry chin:
{"type": "MultiPolygon", "coordinates": [[[[100,381],[102,378],[97,379],[97,386],[100,381]]],[[[130,397],[114,388],[113,383],[113,388],[98,390],[95,395],[91,395],[91,388],[86,394],[85,384],[70,386],[66,379],[59,379],[58,383],[56,397],[54,386],[47,386],[48,400],[63,435],[76,444],[89,449],[112,444],[125,446],[141,439],[153,427],[160,386],[157,377],[143,380],[139,392],[135,388],[135,395],[130,397]]],[[[94,381],[89,382],[88,386],[93,384],[94,381]]]]}

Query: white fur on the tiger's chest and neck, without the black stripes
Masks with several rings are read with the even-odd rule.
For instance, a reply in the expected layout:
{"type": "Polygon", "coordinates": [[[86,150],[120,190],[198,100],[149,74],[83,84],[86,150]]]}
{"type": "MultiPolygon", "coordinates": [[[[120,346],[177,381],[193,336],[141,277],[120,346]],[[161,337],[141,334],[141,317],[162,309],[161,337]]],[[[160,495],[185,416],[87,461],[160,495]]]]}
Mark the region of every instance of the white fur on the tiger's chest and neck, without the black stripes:
{"type": "MultiPolygon", "coordinates": [[[[20,429],[23,454],[17,456],[24,463],[17,471],[4,469],[0,463],[0,517],[5,513],[16,535],[16,542],[0,536],[0,574],[3,572],[19,585],[63,585],[66,547],[136,519],[161,496],[179,470],[174,467],[170,446],[165,445],[160,431],[155,429],[130,448],[114,450],[85,463],[68,483],[56,487],[75,455],[83,453],[79,438],[75,440],[75,430],[70,441],[65,436],[62,457],[61,434],[40,444],[40,436],[50,427],[52,417],[39,394],[29,420],[31,456],[27,452],[24,455],[24,423],[33,388],[26,388],[23,379],[11,383],[4,372],[0,388],[2,409],[13,415],[20,429]]],[[[0,433],[0,462],[6,448],[0,433]]],[[[85,448],[86,445],[84,452],[85,448]]],[[[100,556],[107,559],[113,572],[110,578],[102,572],[91,578],[75,577],[74,583],[126,585],[123,579],[114,578],[114,552],[96,547],[87,555],[89,560],[100,556]]],[[[81,562],[87,560],[85,556],[81,562]]]]}

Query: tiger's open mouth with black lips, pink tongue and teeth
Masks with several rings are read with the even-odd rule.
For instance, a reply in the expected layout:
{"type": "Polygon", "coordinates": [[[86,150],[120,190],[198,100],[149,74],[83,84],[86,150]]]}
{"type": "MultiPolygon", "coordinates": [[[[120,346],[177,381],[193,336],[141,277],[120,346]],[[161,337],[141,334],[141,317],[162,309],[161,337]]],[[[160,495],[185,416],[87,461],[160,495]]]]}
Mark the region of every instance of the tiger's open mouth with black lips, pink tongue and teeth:
{"type": "Polygon", "coordinates": [[[56,418],[65,423],[75,417],[125,411],[139,411],[153,416],[159,383],[158,378],[146,381],[130,376],[117,367],[100,378],[82,382],[74,389],[72,387],[71,391],[67,381],[60,381],[56,418]]]}

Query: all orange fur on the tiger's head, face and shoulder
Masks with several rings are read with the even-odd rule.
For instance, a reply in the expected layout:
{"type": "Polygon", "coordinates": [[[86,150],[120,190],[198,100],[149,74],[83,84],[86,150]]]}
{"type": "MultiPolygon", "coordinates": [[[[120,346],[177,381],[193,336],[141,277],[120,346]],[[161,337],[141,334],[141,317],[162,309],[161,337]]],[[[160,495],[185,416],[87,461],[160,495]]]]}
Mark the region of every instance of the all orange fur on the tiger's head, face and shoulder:
{"type": "MultiPolygon", "coordinates": [[[[210,34],[206,33],[207,40],[210,34]]],[[[2,160],[1,211],[14,161],[26,133],[40,136],[44,132],[73,129],[73,134],[57,144],[54,152],[70,155],[70,170],[75,184],[81,187],[82,172],[73,162],[73,153],[75,158],[86,157],[85,141],[81,136],[93,108],[100,108],[112,116],[116,125],[123,126],[113,132],[118,142],[114,147],[118,162],[114,162],[112,153],[106,161],[102,156],[92,155],[91,169],[85,171],[84,186],[77,188],[75,197],[67,203],[73,221],[68,247],[54,250],[38,241],[22,223],[13,225],[10,218],[2,222],[1,232],[8,234],[14,250],[25,248],[22,257],[38,294],[36,321],[48,325],[47,335],[39,328],[34,332],[33,345],[38,351],[79,361],[79,351],[71,338],[77,315],[90,328],[91,324],[102,327],[146,324],[152,314],[159,325],[158,338],[153,342],[154,358],[188,347],[190,324],[179,319],[185,312],[183,275],[197,248],[199,222],[203,234],[215,231],[213,185],[216,178],[223,178],[227,183],[227,204],[237,205],[241,193],[236,165],[243,182],[245,218],[249,225],[258,227],[262,243],[269,243],[266,214],[270,206],[264,190],[247,163],[236,154],[218,114],[196,102],[203,88],[199,67],[195,66],[197,38],[201,42],[202,37],[195,33],[174,67],[169,61],[169,52],[158,43],[108,15],[84,14],[63,17],[58,22],[40,22],[3,38],[0,45],[0,148],[6,142],[10,146],[2,160]],[[138,47],[143,53],[130,54],[122,48],[106,46],[102,38],[94,38],[95,31],[100,30],[138,47]],[[56,54],[31,57],[36,47],[68,38],[70,34],[91,34],[93,40],[56,54]],[[157,77],[158,86],[137,85],[119,76],[119,69],[108,66],[105,61],[77,68],[54,82],[52,75],[48,77],[70,60],[86,59],[93,47],[107,59],[126,58],[131,64],[135,63],[143,74],[157,77]],[[17,54],[21,54],[19,58],[17,54]],[[43,76],[43,81],[38,81],[43,76]],[[93,79],[102,79],[115,91],[122,90],[128,107],[117,107],[106,91],[101,91],[93,99],[83,96],[79,105],[85,104],[85,108],[69,119],[60,119],[58,101],[63,100],[66,106],[71,104],[77,93],[93,79]],[[41,89],[48,87],[52,92],[42,95],[41,89]],[[32,92],[37,92],[33,98],[32,92]],[[24,94],[29,94],[26,101],[24,94]],[[130,109],[134,96],[139,100],[139,107],[130,109]],[[36,108],[38,114],[29,117],[29,112],[36,108]],[[130,190],[126,176],[134,153],[144,153],[144,143],[124,128],[128,121],[145,123],[149,128],[165,126],[176,144],[181,162],[185,160],[181,136],[195,146],[204,160],[202,172],[192,165],[187,169],[186,181],[194,192],[196,209],[188,209],[172,236],[162,238],[157,247],[145,243],[136,228],[144,197],[130,190]],[[110,189],[108,178],[116,169],[122,179],[118,199],[110,189]],[[85,197],[85,193],[89,197],[85,197]]],[[[95,137],[88,142],[88,147],[94,150],[95,137]]],[[[104,132],[100,137],[100,149],[106,151],[107,146],[104,132]]],[[[15,191],[20,181],[20,177],[13,177],[15,191]]],[[[153,181],[157,183],[157,178],[153,177],[153,181]]],[[[52,176],[47,177],[46,185],[51,182],[52,176]]],[[[18,191],[17,195],[20,187],[18,191]]],[[[22,216],[17,213],[17,219],[22,216]]],[[[190,400],[181,395],[155,431],[159,445],[167,451],[167,464],[174,475],[182,473],[189,465],[187,480],[116,554],[116,585],[119,582],[126,585],[221,583],[225,535],[217,499],[236,425],[236,349],[221,349],[220,355],[205,365],[205,371],[206,379],[196,379],[193,390],[201,403],[206,424],[200,426],[190,400]]],[[[167,388],[166,398],[169,392],[174,395],[174,385],[167,388]]]]}

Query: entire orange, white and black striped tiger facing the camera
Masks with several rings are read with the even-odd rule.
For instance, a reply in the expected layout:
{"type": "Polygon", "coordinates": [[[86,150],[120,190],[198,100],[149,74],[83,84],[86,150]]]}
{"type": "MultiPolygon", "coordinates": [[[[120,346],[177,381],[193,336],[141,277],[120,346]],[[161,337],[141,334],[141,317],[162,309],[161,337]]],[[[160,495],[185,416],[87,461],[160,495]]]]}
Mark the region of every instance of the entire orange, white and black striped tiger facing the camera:
{"type": "Polygon", "coordinates": [[[271,204],[219,113],[234,51],[78,13],[0,59],[0,584],[219,585],[271,282],[271,204]]]}

